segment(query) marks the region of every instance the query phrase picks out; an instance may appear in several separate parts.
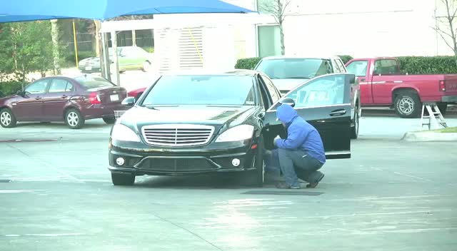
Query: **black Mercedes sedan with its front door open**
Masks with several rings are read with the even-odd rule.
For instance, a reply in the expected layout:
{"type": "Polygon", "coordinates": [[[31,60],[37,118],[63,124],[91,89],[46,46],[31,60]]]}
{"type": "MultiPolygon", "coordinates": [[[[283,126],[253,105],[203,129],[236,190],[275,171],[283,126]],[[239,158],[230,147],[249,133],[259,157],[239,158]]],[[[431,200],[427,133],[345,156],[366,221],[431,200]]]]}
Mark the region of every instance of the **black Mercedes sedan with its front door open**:
{"type": "Polygon", "coordinates": [[[161,76],[111,129],[109,170],[114,185],[137,175],[244,172],[263,185],[263,149],[286,136],[276,107],[291,103],[321,134],[326,157],[351,158],[348,73],[318,76],[281,97],[265,74],[231,71],[161,76]]]}

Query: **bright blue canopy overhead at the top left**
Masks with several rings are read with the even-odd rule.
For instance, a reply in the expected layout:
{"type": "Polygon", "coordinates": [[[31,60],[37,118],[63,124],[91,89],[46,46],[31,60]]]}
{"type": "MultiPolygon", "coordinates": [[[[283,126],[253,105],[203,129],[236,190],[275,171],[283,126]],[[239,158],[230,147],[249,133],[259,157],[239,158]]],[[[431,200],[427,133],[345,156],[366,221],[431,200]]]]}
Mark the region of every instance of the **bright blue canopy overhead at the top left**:
{"type": "Polygon", "coordinates": [[[0,6],[0,23],[46,19],[97,19],[146,14],[248,13],[219,0],[9,0],[0,6]]]}

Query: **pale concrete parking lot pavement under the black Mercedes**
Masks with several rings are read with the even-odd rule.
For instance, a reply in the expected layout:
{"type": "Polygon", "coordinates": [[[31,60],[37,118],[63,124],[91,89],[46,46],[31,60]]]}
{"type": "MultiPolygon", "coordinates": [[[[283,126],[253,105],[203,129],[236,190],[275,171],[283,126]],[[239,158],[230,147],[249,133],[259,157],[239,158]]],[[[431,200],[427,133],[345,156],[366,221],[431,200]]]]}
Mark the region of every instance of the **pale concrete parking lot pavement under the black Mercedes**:
{"type": "Polygon", "coordinates": [[[293,191],[236,175],[114,187],[103,121],[0,128],[0,250],[456,250],[457,143],[400,140],[419,123],[364,112],[352,158],[293,191]]]}

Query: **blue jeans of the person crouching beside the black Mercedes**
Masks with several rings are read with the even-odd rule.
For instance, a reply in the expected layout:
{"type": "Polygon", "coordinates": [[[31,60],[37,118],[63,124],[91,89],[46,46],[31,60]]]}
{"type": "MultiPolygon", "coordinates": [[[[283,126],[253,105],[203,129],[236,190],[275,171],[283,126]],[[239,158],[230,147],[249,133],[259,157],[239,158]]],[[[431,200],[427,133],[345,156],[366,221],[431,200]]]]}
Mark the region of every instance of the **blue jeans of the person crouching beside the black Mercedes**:
{"type": "Polygon", "coordinates": [[[264,151],[266,172],[273,175],[283,173],[286,183],[297,186],[298,178],[308,183],[316,183],[322,173],[318,170],[323,163],[308,155],[303,150],[274,149],[271,154],[264,151]]]}

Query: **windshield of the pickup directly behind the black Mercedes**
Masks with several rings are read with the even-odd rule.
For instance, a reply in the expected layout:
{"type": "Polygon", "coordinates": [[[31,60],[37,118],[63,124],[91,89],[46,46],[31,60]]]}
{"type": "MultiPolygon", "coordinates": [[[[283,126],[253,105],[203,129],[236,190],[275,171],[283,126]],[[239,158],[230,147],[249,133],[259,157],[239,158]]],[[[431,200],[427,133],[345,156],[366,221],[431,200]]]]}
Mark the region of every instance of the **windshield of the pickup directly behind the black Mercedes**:
{"type": "Polygon", "coordinates": [[[271,79],[313,78],[333,73],[331,63],[319,58],[278,58],[262,60],[256,67],[271,79]]]}

